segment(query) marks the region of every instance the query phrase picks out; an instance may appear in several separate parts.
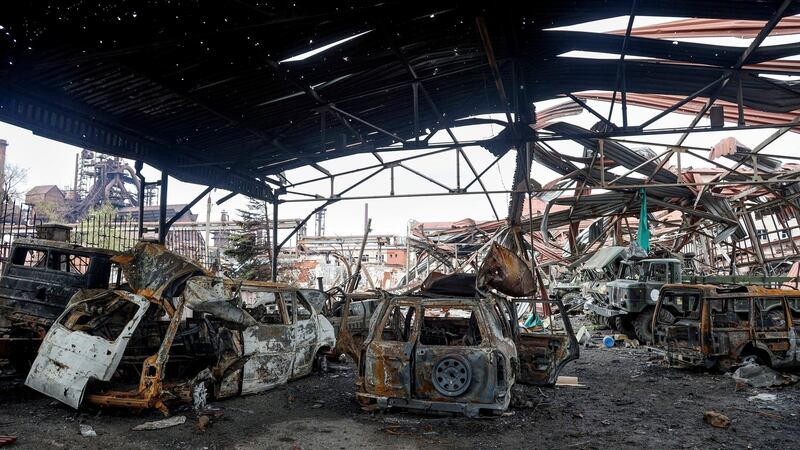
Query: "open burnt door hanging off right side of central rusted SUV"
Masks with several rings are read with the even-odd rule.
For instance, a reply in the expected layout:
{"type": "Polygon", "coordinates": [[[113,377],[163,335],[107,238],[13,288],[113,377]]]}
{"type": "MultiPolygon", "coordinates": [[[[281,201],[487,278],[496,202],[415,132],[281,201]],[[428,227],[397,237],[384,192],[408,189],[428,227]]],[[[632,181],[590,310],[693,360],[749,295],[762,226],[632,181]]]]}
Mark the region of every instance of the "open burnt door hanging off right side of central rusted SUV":
{"type": "Polygon", "coordinates": [[[519,358],[517,381],[521,384],[552,386],[556,383],[561,368],[578,358],[580,350],[572,323],[561,301],[556,304],[560,321],[551,316],[552,325],[548,329],[523,332],[516,337],[519,358]]]}

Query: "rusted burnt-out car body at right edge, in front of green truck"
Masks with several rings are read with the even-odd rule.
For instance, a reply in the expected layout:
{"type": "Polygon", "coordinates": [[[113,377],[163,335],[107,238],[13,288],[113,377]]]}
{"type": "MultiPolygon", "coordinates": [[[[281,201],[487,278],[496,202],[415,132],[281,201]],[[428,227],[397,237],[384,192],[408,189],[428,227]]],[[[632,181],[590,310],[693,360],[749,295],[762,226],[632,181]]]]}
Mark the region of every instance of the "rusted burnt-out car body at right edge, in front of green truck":
{"type": "Polygon", "coordinates": [[[800,366],[800,291],[665,285],[653,318],[656,352],[676,366],[728,370],[746,356],[800,366]]]}

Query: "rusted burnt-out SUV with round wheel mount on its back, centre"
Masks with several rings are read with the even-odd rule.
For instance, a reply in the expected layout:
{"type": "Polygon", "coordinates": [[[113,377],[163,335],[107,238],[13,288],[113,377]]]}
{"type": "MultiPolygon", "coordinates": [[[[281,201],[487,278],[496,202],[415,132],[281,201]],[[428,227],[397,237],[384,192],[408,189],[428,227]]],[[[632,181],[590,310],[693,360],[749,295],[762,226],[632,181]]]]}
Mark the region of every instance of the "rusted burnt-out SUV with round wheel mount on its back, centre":
{"type": "Polygon", "coordinates": [[[365,407],[502,412],[515,382],[552,385],[578,352],[571,331],[519,335],[500,297],[394,297],[375,317],[356,383],[365,407]]]}

